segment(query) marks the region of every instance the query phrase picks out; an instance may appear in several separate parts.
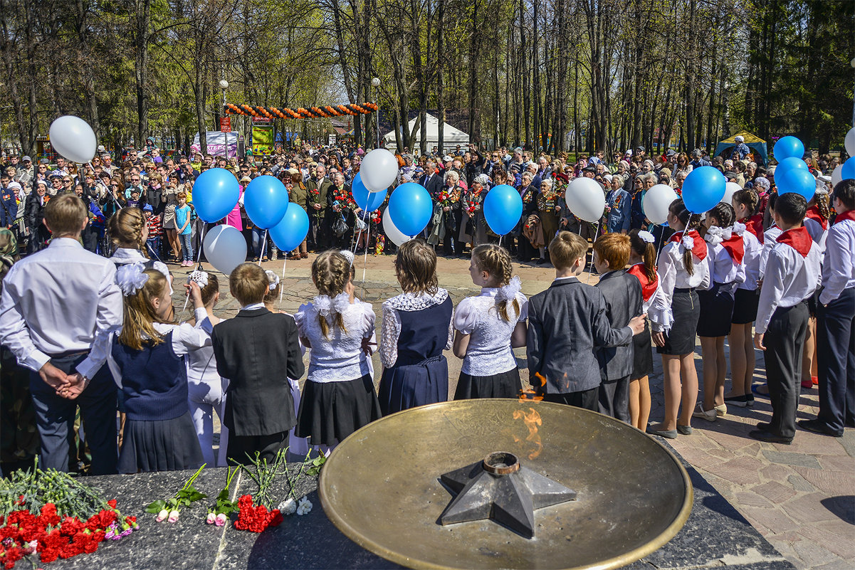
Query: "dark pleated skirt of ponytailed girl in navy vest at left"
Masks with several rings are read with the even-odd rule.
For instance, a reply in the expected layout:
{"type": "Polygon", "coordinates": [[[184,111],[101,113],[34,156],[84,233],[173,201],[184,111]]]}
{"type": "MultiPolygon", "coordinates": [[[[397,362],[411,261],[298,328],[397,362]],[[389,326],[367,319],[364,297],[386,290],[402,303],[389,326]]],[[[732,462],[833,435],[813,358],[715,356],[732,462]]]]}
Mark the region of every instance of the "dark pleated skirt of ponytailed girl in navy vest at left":
{"type": "Polygon", "coordinates": [[[203,461],[190,410],[174,420],[125,421],[119,473],[197,469],[203,461]]]}

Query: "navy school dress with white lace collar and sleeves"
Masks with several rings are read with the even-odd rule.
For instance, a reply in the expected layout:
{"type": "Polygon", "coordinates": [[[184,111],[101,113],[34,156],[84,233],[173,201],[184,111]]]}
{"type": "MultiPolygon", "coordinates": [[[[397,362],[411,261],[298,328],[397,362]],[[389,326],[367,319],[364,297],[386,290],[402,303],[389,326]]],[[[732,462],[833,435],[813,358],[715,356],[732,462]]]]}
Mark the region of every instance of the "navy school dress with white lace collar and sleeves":
{"type": "Polygon", "coordinates": [[[380,340],[380,409],[383,415],[448,400],[448,361],[453,340],[448,291],[402,293],[383,303],[380,340]]]}

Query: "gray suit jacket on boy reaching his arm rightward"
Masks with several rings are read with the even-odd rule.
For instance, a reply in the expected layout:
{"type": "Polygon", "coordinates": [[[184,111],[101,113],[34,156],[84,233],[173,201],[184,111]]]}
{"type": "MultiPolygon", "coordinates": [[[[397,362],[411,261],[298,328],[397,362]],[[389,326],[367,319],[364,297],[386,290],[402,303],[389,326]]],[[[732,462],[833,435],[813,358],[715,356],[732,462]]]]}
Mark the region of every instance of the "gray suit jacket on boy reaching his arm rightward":
{"type": "Polygon", "coordinates": [[[547,394],[596,388],[600,373],[595,347],[622,346],[632,338],[628,326],[611,328],[603,293],[596,287],[575,278],[553,281],[528,299],[529,381],[547,394]]]}

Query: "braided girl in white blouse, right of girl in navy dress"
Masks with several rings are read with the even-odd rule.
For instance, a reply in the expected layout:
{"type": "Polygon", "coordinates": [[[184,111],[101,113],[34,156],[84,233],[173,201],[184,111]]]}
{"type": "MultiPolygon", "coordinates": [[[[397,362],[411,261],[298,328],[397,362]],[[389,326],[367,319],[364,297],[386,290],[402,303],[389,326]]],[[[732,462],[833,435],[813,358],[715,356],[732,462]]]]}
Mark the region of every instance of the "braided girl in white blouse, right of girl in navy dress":
{"type": "Polygon", "coordinates": [[[526,345],[528,299],[510,271],[510,255],[498,245],[472,250],[469,275],[481,295],[463,299],[454,313],[454,355],[463,358],[455,400],[518,397],[522,391],[511,349],[526,345]]]}

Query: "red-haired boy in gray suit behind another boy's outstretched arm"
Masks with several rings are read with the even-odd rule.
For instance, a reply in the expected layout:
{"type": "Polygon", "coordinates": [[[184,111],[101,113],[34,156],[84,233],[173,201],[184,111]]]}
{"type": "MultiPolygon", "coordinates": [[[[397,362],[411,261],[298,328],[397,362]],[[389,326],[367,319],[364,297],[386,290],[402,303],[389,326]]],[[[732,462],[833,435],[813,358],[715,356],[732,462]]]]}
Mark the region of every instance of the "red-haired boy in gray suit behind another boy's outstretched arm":
{"type": "MultiPolygon", "coordinates": [[[[593,244],[593,267],[599,273],[597,288],[605,299],[605,314],[611,326],[627,326],[644,312],[641,283],[623,267],[629,261],[629,236],[608,233],[593,244]]],[[[629,423],[629,377],[633,373],[634,348],[626,346],[597,350],[599,371],[599,413],[629,423]]]]}

